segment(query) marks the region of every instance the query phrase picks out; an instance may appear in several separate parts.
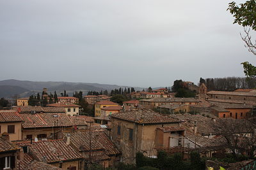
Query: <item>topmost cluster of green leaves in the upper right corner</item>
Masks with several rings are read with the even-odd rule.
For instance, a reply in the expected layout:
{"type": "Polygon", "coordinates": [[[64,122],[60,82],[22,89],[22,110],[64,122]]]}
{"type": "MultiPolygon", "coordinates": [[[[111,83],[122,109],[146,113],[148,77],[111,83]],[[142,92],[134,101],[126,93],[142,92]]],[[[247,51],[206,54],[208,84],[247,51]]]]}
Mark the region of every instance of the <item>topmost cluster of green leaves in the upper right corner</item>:
{"type": "Polygon", "coordinates": [[[252,27],[256,31],[256,1],[246,1],[239,6],[233,1],[228,4],[230,13],[235,17],[234,24],[242,25],[243,27],[252,27]]]}

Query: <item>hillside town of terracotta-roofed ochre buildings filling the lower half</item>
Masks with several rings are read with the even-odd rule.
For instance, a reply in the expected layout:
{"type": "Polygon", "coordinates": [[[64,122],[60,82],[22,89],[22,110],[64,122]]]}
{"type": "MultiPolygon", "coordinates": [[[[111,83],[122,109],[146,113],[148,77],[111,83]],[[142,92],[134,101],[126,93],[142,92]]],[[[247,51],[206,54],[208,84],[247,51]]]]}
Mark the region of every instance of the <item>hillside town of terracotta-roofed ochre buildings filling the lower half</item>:
{"type": "Polygon", "coordinates": [[[256,90],[208,90],[205,83],[176,80],[172,88],[74,92],[74,97],[44,88],[15,104],[6,100],[0,110],[1,168],[253,166],[256,90]],[[179,164],[170,164],[174,160],[179,164]]]}

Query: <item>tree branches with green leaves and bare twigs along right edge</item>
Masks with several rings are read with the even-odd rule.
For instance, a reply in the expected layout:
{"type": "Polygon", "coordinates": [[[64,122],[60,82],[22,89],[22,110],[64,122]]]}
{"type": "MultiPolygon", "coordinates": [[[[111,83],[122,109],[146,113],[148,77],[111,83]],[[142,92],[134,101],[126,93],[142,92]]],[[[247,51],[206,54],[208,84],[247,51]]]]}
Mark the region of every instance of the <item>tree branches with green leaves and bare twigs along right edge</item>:
{"type": "MultiPolygon", "coordinates": [[[[228,4],[228,10],[235,17],[233,24],[239,24],[244,27],[245,36],[241,35],[245,43],[245,47],[249,52],[256,55],[256,41],[253,42],[252,36],[250,36],[250,29],[256,31],[256,1],[249,0],[245,3],[237,5],[234,1],[228,4]]],[[[249,62],[242,62],[244,67],[244,74],[247,77],[256,76],[256,67],[249,62]]]]}

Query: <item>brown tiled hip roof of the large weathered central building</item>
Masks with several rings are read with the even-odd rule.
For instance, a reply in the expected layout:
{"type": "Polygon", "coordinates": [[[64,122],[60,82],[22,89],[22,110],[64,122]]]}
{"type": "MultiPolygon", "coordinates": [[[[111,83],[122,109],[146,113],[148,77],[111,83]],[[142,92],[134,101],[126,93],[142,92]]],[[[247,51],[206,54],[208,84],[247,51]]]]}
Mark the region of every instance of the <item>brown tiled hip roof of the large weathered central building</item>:
{"type": "Polygon", "coordinates": [[[152,110],[124,111],[111,115],[113,118],[136,122],[138,124],[163,124],[181,122],[178,118],[162,115],[152,110]]]}

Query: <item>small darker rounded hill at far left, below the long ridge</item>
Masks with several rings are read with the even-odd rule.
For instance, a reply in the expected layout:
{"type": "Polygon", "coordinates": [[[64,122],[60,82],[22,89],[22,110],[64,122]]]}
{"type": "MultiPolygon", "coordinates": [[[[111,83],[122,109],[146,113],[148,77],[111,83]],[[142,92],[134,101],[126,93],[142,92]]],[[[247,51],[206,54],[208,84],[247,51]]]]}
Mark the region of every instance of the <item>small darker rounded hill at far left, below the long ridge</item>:
{"type": "Polygon", "coordinates": [[[0,97],[19,96],[24,92],[29,92],[29,90],[14,85],[0,85],[0,97]]]}

